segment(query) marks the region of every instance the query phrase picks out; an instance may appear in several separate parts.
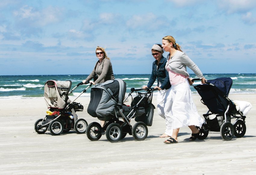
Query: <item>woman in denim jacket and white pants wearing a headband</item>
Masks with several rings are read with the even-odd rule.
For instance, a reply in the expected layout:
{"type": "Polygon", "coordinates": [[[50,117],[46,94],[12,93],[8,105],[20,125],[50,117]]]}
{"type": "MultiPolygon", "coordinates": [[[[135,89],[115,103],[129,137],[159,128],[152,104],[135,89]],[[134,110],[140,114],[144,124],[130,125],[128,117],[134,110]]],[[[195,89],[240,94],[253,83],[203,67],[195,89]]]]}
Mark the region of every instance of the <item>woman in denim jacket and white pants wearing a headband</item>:
{"type": "Polygon", "coordinates": [[[160,137],[170,137],[173,133],[173,124],[170,115],[167,113],[170,111],[168,104],[166,104],[167,97],[170,94],[170,80],[169,74],[165,69],[165,65],[167,63],[166,58],[163,56],[164,50],[160,44],[155,44],[151,48],[151,52],[155,61],[152,64],[152,73],[150,79],[148,81],[148,85],[142,88],[151,87],[154,82],[157,80],[157,86],[154,88],[158,89],[157,95],[157,109],[158,115],[165,119],[166,129],[164,134],[160,137]]]}

